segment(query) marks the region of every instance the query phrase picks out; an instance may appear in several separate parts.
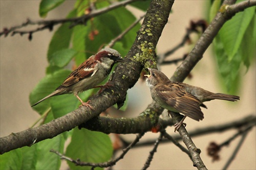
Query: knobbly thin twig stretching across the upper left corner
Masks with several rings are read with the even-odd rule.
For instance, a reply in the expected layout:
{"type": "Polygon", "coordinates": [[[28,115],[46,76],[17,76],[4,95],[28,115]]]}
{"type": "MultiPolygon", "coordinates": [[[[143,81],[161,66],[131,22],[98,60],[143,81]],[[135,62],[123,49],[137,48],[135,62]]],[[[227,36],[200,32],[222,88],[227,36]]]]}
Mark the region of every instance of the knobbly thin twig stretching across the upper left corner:
{"type": "Polygon", "coordinates": [[[83,16],[75,17],[75,18],[39,20],[39,21],[32,21],[30,19],[27,19],[27,21],[22,23],[22,25],[20,25],[20,26],[11,27],[10,29],[4,28],[4,30],[2,32],[0,32],[0,36],[2,36],[2,35],[8,36],[10,33],[12,33],[12,35],[14,35],[14,34],[20,34],[20,35],[30,34],[30,36],[31,36],[33,33],[41,31],[41,30],[45,30],[45,29],[49,29],[51,31],[54,26],[56,26],[60,23],[66,23],[66,22],[73,22],[70,26],[72,28],[76,25],[85,24],[86,21],[92,17],[106,13],[108,11],[111,11],[111,10],[116,9],[121,6],[125,6],[134,1],[136,1],[136,0],[126,0],[126,1],[116,2],[116,3],[111,4],[108,7],[94,10],[87,15],[83,15],[83,16]],[[29,25],[38,25],[38,26],[43,25],[43,26],[39,27],[37,29],[34,29],[34,30],[30,30],[30,31],[16,31],[17,29],[20,29],[20,28],[23,28],[23,27],[26,27],[29,25]]]}

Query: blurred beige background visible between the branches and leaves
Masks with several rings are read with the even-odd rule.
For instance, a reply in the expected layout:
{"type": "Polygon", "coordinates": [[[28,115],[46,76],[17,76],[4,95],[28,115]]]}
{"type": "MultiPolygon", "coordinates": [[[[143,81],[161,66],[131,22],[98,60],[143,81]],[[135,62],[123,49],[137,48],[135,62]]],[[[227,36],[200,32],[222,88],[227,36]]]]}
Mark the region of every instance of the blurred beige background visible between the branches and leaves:
{"type": "MultiPolygon", "coordinates": [[[[38,14],[40,1],[0,1],[1,7],[1,30],[7,27],[20,25],[27,18],[32,20],[41,19],[38,14]]],[[[47,19],[64,18],[73,8],[73,1],[66,1],[57,9],[51,11],[47,19]]],[[[173,12],[169,16],[169,21],[165,26],[162,36],[157,45],[157,53],[162,54],[177,45],[186,33],[191,19],[206,19],[206,1],[176,1],[173,12]],[[204,9],[204,10],[202,10],[204,9]]],[[[131,8],[137,17],[142,12],[131,8]]],[[[30,27],[31,28],[36,27],[30,27]]],[[[57,27],[54,27],[54,31],[57,27]]],[[[25,28],[26,30],[26,28],[25,28]]],[[[29,105],[29,93],[45,76],[47,63],[48,44],[53,32],[44,30],[33,34],[32,41],[28,40],[28,35],[1,37],[1,137],[12,132],[19,132],[28,129],[39,118],[29,105]]],[[[176,52],[173,56],[181,58],[188,53],[190,47],[187,46],[176,52]]],[[[169,58],[172,59],[172,58],[169,58]]],[[[178,65],[161,66],[160,69],[168,76],[172,76],[178,65]]],[[[192,79],[186,79],[185,83],[200,86],[211,92],[226,93],[218,82],[218,72],[216,60],[212,56],[211,48],[208,48],[203,59],[191,71],[192,79]]],[[[246,115],[255,114],[255,61],[249,70],[244,70],[240,91],[236,94],[241,97],[241,101],[236,103],[226,101],[211,101],[205,103],[208,109],[204,109],[204,120],[196,122],[187,118],[187,131],[203,128],[205,126],[223,124],[231,120],[237,120],[246,115]]],[[[145,82],[139,80],[134,88],[129,89],[129,106],[127,112],[120,113],[120,117],[136,117],[148,104],[152,102],[150,91],[145,82]]],[[[164,111],[164,114],[167,112],[164,111]]],[[[167,128],[170,135],[174,134],[173,127],[167,128]]],[[[224,166],[227,159],[232,154],[239,139],[230,143],[228,148],[221,152],[221,160],[212,162],[207,156],[206,148],[211,141],[221,143],[231,137],[236,131],[226,133],[215,133],[194,137],[193,140],[198,148],[201,149],[201,158],[209,169],[220,169],[224,166]],[[228,136],[228,137],[227,137],[228,136]]],[[[148,138],[157,138],[159,134],[146,133],[142,141],[148,138]]],[[[123,135],[127,141],[133,141],[135,135],[123,135]]],[[[236,156],[229,169],[256,169],[256,139],[255,128],[250,131],[245,139],[241,150],[236,156]]],[[[154,146],[132,149],[114,169],[138,169],[146,161],[148,153],[154,146]]],[[[61,166],[66,168],[65,163],[61,166]]],[[[192,163],[187,155],[182,153],[172,143],[161,144],[149,169],[191,169],[192,163]]]]}

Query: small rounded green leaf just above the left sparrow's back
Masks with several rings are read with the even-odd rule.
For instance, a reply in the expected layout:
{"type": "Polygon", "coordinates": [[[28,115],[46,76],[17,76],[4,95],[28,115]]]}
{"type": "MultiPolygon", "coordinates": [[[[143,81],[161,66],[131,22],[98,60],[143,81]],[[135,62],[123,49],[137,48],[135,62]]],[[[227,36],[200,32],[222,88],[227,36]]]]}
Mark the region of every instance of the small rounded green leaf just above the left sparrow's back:
{"type": "Polygon", "coordinates": [[[73,49],[63,49],[53,53],[49,58],[52,66],[64,67],[68,65],[77,52],[73,49]]]}

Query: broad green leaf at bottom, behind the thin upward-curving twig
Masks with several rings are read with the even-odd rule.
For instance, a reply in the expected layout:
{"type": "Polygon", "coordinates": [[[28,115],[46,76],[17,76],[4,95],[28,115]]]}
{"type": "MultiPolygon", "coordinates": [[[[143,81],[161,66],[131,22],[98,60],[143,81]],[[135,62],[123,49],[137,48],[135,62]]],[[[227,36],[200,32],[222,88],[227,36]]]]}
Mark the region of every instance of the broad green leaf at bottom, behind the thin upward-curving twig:
{"type": "MultiPolygon", "coordinates": [[[[108,135],[87,129],[78,130],[77,128],[74,129],[71,142],[66,151],[68,157],[93,163],[108,161],[111,159],[112,154],[112,143],[108,135]]],[[[68,161],[68,164],[71,169],[90,169],[88,166],[76,166],[70,161],[68,161]]]]}

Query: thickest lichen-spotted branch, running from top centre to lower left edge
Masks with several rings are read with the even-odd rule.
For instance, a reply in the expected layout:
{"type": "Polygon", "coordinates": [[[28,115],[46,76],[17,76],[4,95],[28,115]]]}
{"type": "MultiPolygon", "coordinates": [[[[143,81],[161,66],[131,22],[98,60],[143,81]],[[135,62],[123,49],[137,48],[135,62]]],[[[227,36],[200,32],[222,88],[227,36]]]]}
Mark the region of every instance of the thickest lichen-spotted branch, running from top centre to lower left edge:
{"type": "MultiPolygon", "coordinates": [[[[130,52],[126,55],[125,63],[116,67],[112,78],[109,80],[109,83],[113,84],[113,86],[91,99],[91,106],[95,108],[94,110],[80,107],[65,116],[52,120],[48,124],[2,137],[0,139],[0,154],[44,139],[53,138],[60,133],[69,131],[99,115],[115,103],[119,107],[122,106],[127,89],[133,87],[140,77],[143,64],[146,62],[145,59],[150,57],[156,61],[154,49],[168,20],[172,5],[173,1],[167,0],[153,0],[151,2],[136,40],[130,52]],[[157,18],[155,17],[156,14],[158,15],[157,18]],[[145,32],[147,33],[145,34],[145,32]]],[[[161,110],[162,108],[159,106],[155,107],[155,109],[161,110]]],[[[148,111],[149,113],[151,113],[150,110],[148,111]]],[[[155,115],[158,115],[158,113],[155,113],[155,115]]]]}

